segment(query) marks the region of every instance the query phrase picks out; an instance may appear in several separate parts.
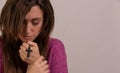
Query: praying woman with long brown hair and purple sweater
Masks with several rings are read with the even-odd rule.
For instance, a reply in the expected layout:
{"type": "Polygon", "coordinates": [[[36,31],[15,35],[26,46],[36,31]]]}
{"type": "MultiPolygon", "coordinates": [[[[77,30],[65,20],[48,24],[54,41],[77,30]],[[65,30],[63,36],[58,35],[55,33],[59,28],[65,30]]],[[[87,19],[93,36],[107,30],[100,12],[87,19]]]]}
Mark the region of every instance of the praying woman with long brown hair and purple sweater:
{"type": "Polygon", "coordinates": [[[0,16],[0,73],[68,73],[62,42],[50,38],[49,0],[7,0],[0,16]]]}

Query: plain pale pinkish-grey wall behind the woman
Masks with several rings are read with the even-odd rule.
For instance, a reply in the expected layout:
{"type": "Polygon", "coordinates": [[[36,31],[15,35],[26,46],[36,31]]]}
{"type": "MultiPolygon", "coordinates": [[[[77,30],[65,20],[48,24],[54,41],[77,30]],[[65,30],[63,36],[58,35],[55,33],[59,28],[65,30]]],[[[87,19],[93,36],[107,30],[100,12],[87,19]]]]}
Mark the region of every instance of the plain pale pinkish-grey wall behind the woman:
{"type": "MultiPolygon", "coordinates": [[[[5,0],[0,0],[0,6],[5,0]]],[[[120,0],[51,0],[69,73],[120,73],[120,0]]]]}

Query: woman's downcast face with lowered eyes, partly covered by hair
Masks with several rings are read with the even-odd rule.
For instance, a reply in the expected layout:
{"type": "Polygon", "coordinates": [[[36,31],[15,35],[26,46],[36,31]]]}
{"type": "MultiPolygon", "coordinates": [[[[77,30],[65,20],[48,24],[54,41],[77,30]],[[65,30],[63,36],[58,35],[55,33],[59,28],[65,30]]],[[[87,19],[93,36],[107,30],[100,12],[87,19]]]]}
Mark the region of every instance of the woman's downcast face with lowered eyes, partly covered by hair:
{"type": "Polygon", "coordinates": [[[19,38],[23,41],[33,41],[41,31],[43,24],[43,11],[39,6],[33,6],[26,14],[23,24],[24,28],[19,33],[19,38]]]}

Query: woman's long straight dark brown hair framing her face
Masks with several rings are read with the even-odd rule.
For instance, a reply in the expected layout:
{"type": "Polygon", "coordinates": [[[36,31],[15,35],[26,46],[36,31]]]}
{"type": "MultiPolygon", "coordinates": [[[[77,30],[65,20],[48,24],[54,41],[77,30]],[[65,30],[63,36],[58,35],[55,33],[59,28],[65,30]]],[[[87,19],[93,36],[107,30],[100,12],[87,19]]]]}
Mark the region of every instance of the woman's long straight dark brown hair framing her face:
{"type": "Polygon", "coordinates": [[[48,40],[54,26],[54,12],[49,0],[7,0],[0,15],[2,32],[4,73],[25,73],[26,63],[19,57],[19,46],[22,41],[18,37],[23,28],[25,15],[33,6],[39,6],[44,13],[44,21],[40,34],[34,40],[40,48],[40,54],[47,59],[48,40]]]}

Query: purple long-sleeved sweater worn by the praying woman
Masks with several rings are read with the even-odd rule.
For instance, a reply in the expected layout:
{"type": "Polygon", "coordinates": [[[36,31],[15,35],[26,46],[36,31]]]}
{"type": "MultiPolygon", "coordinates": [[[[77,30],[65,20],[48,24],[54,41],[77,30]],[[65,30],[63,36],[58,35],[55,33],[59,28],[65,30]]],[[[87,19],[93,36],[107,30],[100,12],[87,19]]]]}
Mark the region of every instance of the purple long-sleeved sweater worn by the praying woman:
{"type": "MultiPolygon", "coordinates": [[[[49,40],[48,64],[50,73],[68,73],[67,57],[63,43],[55,38],[49,40]]],[[[0,73],[3,73],[2,52],[0,44],[0,73]]]]}

